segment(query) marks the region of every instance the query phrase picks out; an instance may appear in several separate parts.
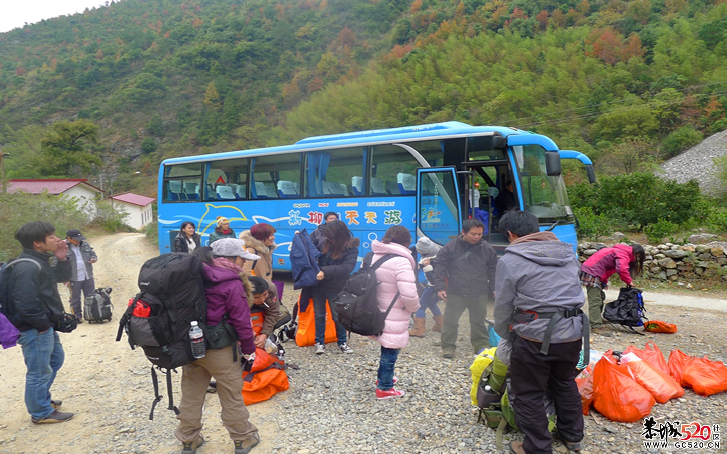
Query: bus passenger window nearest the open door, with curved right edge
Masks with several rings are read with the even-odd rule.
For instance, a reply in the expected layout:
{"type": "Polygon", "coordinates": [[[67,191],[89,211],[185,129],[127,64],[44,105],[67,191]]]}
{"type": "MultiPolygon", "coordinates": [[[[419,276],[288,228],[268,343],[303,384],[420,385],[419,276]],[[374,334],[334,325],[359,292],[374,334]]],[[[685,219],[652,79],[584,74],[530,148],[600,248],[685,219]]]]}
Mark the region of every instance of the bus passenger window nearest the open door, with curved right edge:
{"type": "Polygon", "coordinates": [[[409,151],[395,145],[373,147],[370,194],[374,196],[417,193],[419,163],[409,151]]]}

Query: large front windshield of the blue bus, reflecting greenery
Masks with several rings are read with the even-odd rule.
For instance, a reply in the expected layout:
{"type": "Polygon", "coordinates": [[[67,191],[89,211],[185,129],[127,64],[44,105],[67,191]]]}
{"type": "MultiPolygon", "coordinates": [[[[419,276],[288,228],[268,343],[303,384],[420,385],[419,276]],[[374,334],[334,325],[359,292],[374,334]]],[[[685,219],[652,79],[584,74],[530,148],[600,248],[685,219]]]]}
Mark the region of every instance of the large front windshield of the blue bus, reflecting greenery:
{"type": "Polygon", "coordinates": [[[545,222],[572,216],[563,177],[549,177],[545,149],[539,145],[513,147],[520,175],[521,196],[526,211],[545,222]]]}

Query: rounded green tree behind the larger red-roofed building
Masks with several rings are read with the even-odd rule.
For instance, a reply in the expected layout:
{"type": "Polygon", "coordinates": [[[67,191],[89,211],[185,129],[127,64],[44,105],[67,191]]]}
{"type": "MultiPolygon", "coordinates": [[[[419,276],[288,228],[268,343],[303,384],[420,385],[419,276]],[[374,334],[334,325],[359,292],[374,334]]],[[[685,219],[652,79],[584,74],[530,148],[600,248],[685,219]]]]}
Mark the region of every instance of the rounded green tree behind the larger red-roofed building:
{"type": "Polygon", "coordinates": [[[87,143],[98,143],[99,127],[86,119],[57,121],[41,141],[41,153],[35,167],[42,175],[71,176],[88,172],[101,158],[88,153],[87,143]]]}

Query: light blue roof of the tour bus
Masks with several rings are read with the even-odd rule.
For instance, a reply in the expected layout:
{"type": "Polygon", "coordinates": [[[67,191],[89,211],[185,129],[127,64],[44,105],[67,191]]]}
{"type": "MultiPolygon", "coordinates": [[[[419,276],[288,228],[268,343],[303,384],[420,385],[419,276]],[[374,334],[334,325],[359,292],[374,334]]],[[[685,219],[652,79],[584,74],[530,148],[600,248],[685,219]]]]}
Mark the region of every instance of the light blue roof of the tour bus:
{"type": "Polygon", "coordinates": [[[442,123],[427,123],[414,126],[403,126],[390,129],[371,129],[369,131],[346,132],[343,134],[329,134],[325,136],[313,136],[301,139],[294,145],[282,145],[278,147],[254,148],[252,150],[229,151],[226,153],[214,153],[214,155],[185,156],[182,158],[170,158],[162,161],[162,165],[189,163],[196,161],[209,161],[214,156],[214,161],[238,158],[241,155],[270,155],[286,153],[299,150],[310,150],[315,148],[334,148],[352,145],[369,145],[375,142],[395,142],[397,140],[425,139],[427,137],[446,136],[469,136],[475,134],[499,133],[507,137],[510,134],[533,134],[530,131],[512,128],[509,126],[471,126],[461,121],[444,121],[442,123]]]}

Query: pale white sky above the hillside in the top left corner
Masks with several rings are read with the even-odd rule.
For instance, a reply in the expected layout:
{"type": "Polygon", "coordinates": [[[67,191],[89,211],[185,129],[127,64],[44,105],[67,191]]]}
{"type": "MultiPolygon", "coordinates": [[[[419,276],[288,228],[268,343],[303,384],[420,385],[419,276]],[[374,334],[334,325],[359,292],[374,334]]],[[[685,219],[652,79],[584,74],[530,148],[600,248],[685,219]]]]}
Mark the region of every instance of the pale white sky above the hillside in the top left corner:
{"type": "Polygon", "coordinates": [[[13,28],[50,19],[60,15],[72,15],[84,9],[101,6],[103,0],[5,0],[0,13],[0,33],[13,28]]]}

